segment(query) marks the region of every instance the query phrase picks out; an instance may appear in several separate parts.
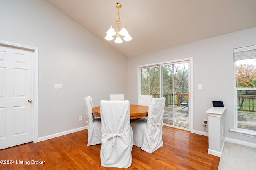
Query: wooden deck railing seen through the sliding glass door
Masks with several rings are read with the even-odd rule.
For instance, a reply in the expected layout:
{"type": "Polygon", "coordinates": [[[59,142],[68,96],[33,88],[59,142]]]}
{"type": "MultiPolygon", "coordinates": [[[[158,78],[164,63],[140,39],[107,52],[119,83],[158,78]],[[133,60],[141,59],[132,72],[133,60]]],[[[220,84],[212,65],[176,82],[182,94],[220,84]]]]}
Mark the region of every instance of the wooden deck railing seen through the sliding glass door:
{"type": "MultiPolygon", "coordinates": [[[[173,94],[172,93],[164,93],[163,97],[165,98],[165,105],[176,105],[180,106],[180,99],[178,97],[178,94],[180,94],[181,98],[186,102],[185,100],[187,99],[187,93],[174,93],[174,102],[173,102],[173,94]]],[[[159,94],[151,94],[153,95],[153,98],[159,98],[159,94]]]]}

